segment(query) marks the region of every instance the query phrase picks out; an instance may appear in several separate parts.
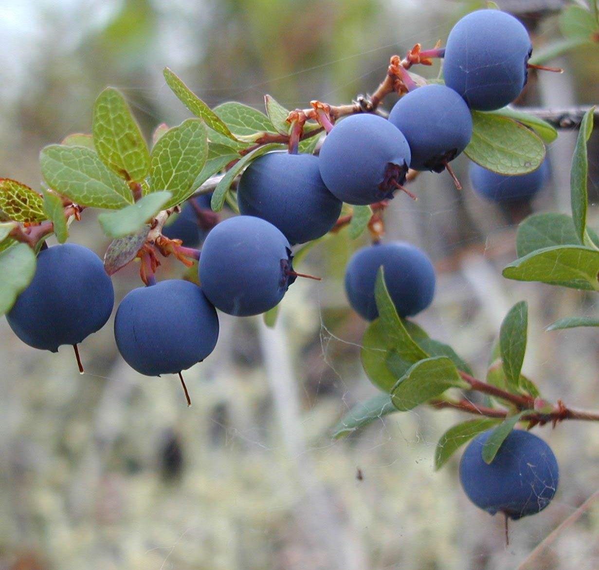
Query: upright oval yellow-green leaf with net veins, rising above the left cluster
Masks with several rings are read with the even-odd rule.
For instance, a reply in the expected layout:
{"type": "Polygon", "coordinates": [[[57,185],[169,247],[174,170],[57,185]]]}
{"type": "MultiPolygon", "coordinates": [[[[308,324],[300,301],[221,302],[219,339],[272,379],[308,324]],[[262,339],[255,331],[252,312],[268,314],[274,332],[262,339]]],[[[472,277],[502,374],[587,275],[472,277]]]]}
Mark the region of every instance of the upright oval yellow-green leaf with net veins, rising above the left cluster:
{"type": "Polygon", "coordinates": [[[93,145],[102,162],[126,181],[150,172],[150,152],[123,95],[107,87],[93,106],[93,145]]]}

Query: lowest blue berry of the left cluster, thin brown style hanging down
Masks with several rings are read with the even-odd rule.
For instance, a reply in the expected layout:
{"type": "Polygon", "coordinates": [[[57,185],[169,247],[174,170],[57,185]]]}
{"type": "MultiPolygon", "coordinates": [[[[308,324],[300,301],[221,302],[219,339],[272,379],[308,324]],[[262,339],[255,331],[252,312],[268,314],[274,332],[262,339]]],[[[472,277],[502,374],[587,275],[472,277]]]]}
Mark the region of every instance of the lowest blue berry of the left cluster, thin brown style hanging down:
{"type": "Polygon", "coordinates": [[[176,374],[201,362],[218,336],[214,307],[200,287],[179,279],[130,291],[114,319],[119,352],[146,376],[176,374]]]}

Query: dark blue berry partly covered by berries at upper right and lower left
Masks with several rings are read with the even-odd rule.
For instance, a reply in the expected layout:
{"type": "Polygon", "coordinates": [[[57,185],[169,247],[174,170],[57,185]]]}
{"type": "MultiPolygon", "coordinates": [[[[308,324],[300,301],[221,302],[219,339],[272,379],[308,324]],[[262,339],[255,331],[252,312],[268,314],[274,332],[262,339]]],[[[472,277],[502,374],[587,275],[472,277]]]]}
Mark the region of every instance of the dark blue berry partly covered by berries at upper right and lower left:
{"type": "Polygon", "coordinates": [[[325,235],[341,213],[310,154],[269,152],[253,161],[239,181],[237,203],[241,214],[270,221],[292,245],[325,235]]]}

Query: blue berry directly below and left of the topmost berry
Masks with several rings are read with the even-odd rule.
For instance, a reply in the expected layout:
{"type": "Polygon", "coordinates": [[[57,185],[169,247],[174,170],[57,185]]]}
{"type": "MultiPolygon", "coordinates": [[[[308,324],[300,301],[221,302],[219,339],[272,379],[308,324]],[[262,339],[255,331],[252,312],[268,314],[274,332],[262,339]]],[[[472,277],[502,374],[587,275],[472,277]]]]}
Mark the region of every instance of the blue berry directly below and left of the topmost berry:
{"type": "Polygon", "coordinates": [[[444,85],[425,85],[395,103],[389,114],[406,137],[410,167],[441,172],[472,137],[472,115],[464,100],[444,85]]]}

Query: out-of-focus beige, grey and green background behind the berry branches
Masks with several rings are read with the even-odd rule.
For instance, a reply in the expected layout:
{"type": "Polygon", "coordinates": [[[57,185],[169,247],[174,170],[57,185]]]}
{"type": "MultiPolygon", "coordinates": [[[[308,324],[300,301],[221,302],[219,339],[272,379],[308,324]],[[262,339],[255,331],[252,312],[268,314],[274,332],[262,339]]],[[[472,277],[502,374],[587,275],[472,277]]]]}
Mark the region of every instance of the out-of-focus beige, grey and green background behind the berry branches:
{"type": "MultiPolygon", "coordinates": [[[[372,92],[389,57],[432,47],[483,2],[442,0],[2,0],[0,175],[40,187],[38,152],[90,131],[95,97],[121,89],[148,136],[186,109],[164,83],[171,67],[210,106],[263,109],[265,93],[294,109],[314,98],[347,103],[372,92]]],[[[511,1],[536,46],[559,37],[567,2],[511,1]],[[522,12],[527,12],[523,14],[522,12]]],[[[584,2],[580,2],[584,4],[584,2]]],[[[599,101],[596,49],[556,59],[565,73],[530,74],[517,103],[567,107],[599,101]]],[[[415,69],[435,77],[438,68],[415,69]]],[[[385,101],[390,108],[392,101],[385,101]]],[[[515,227],[531,209],[568,212],[575,131],[549,148],[552,179],[533,203],[484,202],[455,161],[464,190],[425,173],[386,214],[387,239],[424,248],[437,295],[416,321],[449,342],[483,377],[504,314],[530,305],[524,372],[548,398],[599,408],[594,329],[545,332],[571,314],[597,315],[595,296],[501,277],[515,259],[515,227]]],[[[597,199],[597,136],[591,202],[597,199]]],[[[591,206],[591,225],[597,211],[591,206]]],[[[71,239],[100,256],[108,245],[92,211],[71,239]]],[[[176,377],[149,378],[117,353],[111,322],[80,347],[31,349],[0,321],[0,569],[2,570],[483,570],[599,567],[599,505],[531,551],[597,490],[599,428],[564,422],[537,430],[561,466],[552,505],[512,525],[479,511],[457,478],[459,454],[434,472],[438,437],[460,417],[419,408],[346,440],[330,428],[376,393],[359,360],[363,322],[343,271],[364,236],[313,248],[276,328],[220,315],[215,352],[176,377]],[[361,477],[356,476],[361,473],[361,477]],[[528,559],[528,562],[525,562],[528,559]]],[[[165,260],[159,278],[180,276],[165,260]]],[[[141,282],[135,264],[114,276],[117,302],[141,282]]],[[[464,419],[464,418],[462,418],[464,419]]]]}

